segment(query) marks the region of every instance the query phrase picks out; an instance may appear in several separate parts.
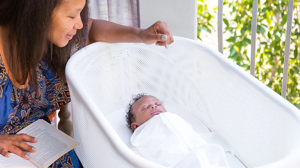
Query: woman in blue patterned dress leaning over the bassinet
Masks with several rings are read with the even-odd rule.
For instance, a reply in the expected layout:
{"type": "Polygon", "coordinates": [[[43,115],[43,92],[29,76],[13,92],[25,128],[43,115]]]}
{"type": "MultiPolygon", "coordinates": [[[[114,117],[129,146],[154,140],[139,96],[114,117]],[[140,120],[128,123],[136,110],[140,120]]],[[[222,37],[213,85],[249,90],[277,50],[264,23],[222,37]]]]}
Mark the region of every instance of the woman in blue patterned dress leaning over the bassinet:
{"type": "MultiPolygon", "coordinates": [[[[10,151],[29,159],[20,148],[38,150],[22,141],[37,139],[15,134],[38,119],[50,122],[47,115],[70,101],[65,65],[78,49],[97,41],[166,48],[173,42],[164,22],[140,29],[90,19],[86,0],[2,0],[0,16],[0,153],[5,157],[10,151]]],[[[69,151],[51,167],[79,167],[79,162],[69,151]]]]}

